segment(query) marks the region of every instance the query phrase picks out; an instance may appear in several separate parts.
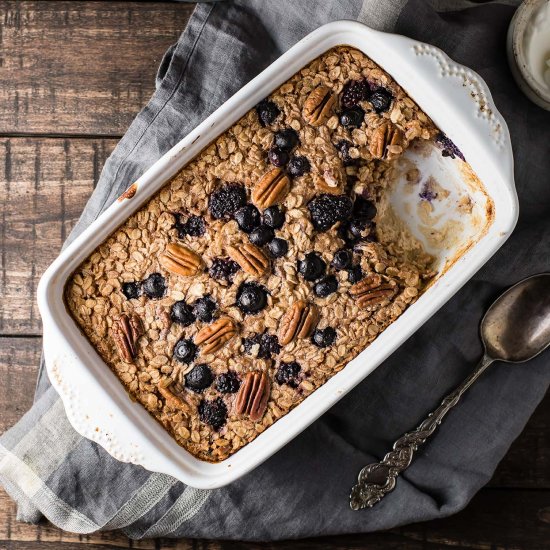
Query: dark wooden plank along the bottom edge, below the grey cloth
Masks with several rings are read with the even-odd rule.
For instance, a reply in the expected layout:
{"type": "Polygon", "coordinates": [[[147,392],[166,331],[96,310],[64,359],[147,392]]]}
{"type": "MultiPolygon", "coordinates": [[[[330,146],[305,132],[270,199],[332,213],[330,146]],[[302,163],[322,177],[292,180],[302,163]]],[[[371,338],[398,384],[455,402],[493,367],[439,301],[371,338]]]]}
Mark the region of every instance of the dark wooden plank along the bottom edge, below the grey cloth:
{"type": "MultiPolygon", "coordinates": [[[[548,548],[550,519],[548,491],[482,490],[462,512],[450,518],[409,525],[389,532],[322,537],[277,543],[245,543],[207,540],[129,541],[121,533],[79,536],[47,523],[28,525],[15,519],[15,506],[0,490],[0,548],[12,550],[92,550],[140,548],[190,550],[428,550],[436,548],[548,548]]],[[[368,512],[365,512],[368,514],[368,512]]]]}

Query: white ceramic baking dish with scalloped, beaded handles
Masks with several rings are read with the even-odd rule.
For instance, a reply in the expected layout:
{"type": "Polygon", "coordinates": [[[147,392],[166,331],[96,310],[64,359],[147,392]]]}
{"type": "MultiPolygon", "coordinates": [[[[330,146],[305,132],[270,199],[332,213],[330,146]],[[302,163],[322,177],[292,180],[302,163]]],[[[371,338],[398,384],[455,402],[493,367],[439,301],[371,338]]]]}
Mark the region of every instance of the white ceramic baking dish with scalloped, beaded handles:
{"type": "Polygon", "coordinates": [[[351,21],[330,23],[298,42],[166,153],[132,190],[132,198],[116,201],[53,262],[40,281],[38,304],[44,323],[46,365],[77,432],[121,461],[170,474],[197,488],[232,482],[332,407],[468,281],[508,238],[518,215],[508,130],[483,80],[433,46],[351,21]],[[230,458],[218,464],[200,461],[178,446],[140,404],[128,398],[67,312],[64,285],[97,245],[215,137],[309,61],[342,44],[358,48],[380,64],[458,145],[494,201],[492,224],[484,234],[477,228],[480,234],[474,237],[478,241],[474,238],[471,246],[463,247],[465,252],[458,259],[448,261],[453,251],[441,251],[445,273],[378,337],[368,353],[361,353],[230,458]]]}

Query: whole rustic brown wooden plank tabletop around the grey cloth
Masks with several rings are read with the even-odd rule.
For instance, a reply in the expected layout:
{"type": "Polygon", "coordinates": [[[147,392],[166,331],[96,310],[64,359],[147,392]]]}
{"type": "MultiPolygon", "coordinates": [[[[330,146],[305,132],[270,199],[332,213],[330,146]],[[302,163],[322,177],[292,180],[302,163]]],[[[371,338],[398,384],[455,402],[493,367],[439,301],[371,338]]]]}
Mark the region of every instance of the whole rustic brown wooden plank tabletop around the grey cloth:
{"type": "MultiPolygon", "coordinates": [[[[41,348],[35,292],[101,167],[154,88],[192,6],[0,0],[0,433],[31,406],[41,348]]],[[[255,545],[78,536],[15,519],[0,489],[0,549],[549,548],[550,399],[463,512],[390,532],[255,545]]]]}

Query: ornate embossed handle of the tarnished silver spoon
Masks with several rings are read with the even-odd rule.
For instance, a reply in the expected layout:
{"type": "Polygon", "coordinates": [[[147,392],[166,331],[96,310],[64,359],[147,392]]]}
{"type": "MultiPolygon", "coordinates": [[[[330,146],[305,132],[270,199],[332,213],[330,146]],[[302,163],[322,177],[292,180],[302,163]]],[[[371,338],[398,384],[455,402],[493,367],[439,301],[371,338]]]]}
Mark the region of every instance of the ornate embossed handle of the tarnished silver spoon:
{"type": "Polygon", "coordinates": [[[462,394],[479,378],[485,369],[493,362],[485,354],[476,369],[452,391],[435,411],[412,432],[401,436],[381,462],[365,466],[357,476],[357,484],[350,494],[352,510],[372,508],[395,487],[397,476],[406,470],[412,462],[414,452],[432,435],[441,424],[445,415],[459,402],[462,394]]]}

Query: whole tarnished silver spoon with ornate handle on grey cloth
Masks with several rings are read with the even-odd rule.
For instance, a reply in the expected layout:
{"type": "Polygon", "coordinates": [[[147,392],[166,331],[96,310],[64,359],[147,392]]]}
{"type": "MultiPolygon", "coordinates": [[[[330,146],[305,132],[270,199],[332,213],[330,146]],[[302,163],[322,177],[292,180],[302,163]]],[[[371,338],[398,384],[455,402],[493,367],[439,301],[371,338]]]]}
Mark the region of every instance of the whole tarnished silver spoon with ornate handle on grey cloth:
{"type": "Polygon", "coordinates": [[[484,354],[474,372],[412,432],[400,437],[381,462],[365,466],[350,494],[352,510],[371,508],[395,487],[397,476],[462,394],[495,361],[523,363],[550,345],[550,273],[523,279],[502,294],[481,321],[484,354]]]}

